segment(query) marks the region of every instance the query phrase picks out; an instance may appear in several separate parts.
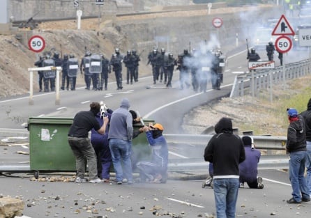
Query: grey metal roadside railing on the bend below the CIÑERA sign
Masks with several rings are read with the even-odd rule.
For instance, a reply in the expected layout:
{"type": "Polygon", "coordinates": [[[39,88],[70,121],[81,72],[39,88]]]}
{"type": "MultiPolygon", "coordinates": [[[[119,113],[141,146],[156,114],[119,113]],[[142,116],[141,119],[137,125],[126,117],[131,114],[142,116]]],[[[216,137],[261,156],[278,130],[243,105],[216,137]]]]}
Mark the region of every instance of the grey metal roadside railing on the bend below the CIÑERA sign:
{"type": "Polygon", "coordinates": [[[236,76],[230,98],[241,97],[245,93],[252,93],[252,95],[257,96],[262,89],[272,89],[273,84],[304,77],[310,73],[311,59],[289,63],[269,70],[245,72],[236,76]]]}

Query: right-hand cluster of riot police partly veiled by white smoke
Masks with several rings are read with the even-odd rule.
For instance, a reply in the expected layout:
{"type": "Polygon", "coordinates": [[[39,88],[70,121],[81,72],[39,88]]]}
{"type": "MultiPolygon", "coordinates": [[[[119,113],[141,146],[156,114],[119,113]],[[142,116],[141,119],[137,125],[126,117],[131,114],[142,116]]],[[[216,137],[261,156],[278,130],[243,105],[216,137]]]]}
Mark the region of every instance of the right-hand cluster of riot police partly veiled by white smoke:
{"type": "Polygon", "coordinates": [[[220,89],[223,82],[223,72],[225,70],[225,56],[220,49],[188,49],[183,50],[175,59],[172,53],[166,53],[165,48],[154,47],[149,52],[148,63],[152,66],[153,84],[157,82],[166,84],[167,88],[172,88],[172,77],[174,67],[179,70],[180,89],[190,88],[193,91],[206,92],[208,82],[211,82],[213,89],[220,89]],[[191,79],[190,79],[191,77],[191,79]]]}

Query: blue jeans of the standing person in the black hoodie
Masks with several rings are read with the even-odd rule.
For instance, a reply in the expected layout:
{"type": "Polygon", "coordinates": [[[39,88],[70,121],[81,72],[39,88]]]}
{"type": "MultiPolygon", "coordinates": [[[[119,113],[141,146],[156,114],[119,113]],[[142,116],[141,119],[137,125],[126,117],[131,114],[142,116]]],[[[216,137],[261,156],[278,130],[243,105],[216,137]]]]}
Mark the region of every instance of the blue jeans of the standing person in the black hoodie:
{"type": "Polygon", "coordinates": [[[217,218],[234,218],[238,198],[238,178],[215,178],[214,196],[217,218]]]}

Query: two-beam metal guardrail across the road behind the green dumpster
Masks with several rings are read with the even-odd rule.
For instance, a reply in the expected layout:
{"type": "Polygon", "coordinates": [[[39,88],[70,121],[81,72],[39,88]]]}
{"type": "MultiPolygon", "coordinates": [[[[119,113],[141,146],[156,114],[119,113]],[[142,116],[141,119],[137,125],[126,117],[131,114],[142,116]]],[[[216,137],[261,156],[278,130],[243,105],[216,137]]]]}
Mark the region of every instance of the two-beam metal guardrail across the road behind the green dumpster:
{"type": "MultiPolygon", "coordinates": [[[[25,129],[10,130],[0,129],[3,137],[23,136],[29,137],[29,132],[25,129]]],[[[212,134],[163,134],[169,146],[195,145],[203,151],[212,134]]],[[[287,155],[271,155],[271,150],[285,150],[287,137],[252,136],[257,149],[267,150],[267,155],[261,155],[259,169],[288,169],[287,155]]],[[[0,172],[27,172],[30,171],[29,164],[1,164],[0,172]]],[[[168,171],[208,171],[208,162],[204,162],[203,153],[197,158],[169,159],[168,171]]]]}

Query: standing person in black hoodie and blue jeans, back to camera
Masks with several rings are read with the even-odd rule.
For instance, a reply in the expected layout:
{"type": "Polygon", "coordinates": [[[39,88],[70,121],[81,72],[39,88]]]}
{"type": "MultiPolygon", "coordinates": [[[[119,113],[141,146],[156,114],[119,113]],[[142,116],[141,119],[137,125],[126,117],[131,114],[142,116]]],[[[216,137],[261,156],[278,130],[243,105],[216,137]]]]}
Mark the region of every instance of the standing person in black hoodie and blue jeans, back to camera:
{"type": "Polygon", "coordinates": [[[241,138],[233,134],[230,118],[220,118],[215,132],[204,150],[204,160],[213,163],[217,217],[234,218],[239,187],[238,164],[245,160],[245,150],[241,138]]]}

